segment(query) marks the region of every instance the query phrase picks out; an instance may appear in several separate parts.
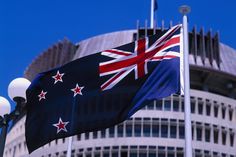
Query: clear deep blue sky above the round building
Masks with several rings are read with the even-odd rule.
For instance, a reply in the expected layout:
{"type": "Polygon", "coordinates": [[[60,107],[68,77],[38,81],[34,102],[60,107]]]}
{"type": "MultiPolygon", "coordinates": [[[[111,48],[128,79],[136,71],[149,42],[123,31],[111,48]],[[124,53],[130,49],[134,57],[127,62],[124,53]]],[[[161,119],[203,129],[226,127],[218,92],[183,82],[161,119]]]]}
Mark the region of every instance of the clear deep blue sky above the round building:
{"type": "MultiPolygon", "coordinates": [[[[65,37],[77,43],[96,35],[136,29],[150,21],[151,0],[1,0],[0,96],[9,101],[8,84],[23,77],[24,70],[44,50],[65,37]]],[[[220,41],[236,49],[235,0],[158,0],[155,13],[160,24],[182,21],[179,6],[191,7],[193,26],[220,33],[220,41]]],[[[10,101],[12,108],[14,102],[10,101]]]]}

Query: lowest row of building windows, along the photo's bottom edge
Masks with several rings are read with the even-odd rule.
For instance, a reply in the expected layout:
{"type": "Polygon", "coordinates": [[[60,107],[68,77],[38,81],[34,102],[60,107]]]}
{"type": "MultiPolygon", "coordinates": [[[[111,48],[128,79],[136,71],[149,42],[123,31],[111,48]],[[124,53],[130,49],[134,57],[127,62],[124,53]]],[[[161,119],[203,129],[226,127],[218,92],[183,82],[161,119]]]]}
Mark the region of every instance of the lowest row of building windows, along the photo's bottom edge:
{"type": "MultiPolygon", "coordinates": [[[[57,152],[55,156],[66,157],[66,151],[62,153],[57,152]]],[[[184,149],[182,147],[146,145],[89,147],[86,149],[81,148],[76,151],[72,150],[71,157],[184,157],[184,149]]],[[[236,157],[236,155],[194,149],[193,157],[236,157]]]]}

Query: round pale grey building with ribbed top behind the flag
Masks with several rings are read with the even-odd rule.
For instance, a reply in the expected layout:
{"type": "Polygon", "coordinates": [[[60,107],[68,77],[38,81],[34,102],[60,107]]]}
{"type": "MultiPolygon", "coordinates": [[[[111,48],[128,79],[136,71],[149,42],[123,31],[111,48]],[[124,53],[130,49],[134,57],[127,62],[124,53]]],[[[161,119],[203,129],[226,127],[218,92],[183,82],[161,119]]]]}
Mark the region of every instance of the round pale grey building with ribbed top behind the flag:
{"type": "MultiPolygon", "coordinates": [[[[162,31],[139,28],[95,36],[73,44],[63,40],[38,56],[25,71],[35,74],[73,59],[113,48],[162,31]],[[155,32],[154,32],[155,31],[155,32]]],[[[218,33],[203,28],[189,32],[192,143],[195,157],[236,157],[236,50],[220,43],[218,33]]],[[[7,136],[5,157],[29,155],[24,137],[25,117],[7,136]]],[[[73,136],[74,157],[183,157],[183,97],[154,101],[114,127],[73,136]]],[[[68,139],[58,139],[32,157],[66,156],[68,139]]]]}

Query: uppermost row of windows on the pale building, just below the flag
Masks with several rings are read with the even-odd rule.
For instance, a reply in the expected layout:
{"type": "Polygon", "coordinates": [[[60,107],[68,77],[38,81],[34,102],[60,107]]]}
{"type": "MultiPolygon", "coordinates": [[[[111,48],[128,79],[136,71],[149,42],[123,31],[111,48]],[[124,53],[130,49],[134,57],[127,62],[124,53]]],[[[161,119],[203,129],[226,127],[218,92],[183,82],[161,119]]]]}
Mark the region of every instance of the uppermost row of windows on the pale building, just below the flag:
{"type": "MultiPolygon", "coordinates": [[[[162,110],[184,112],[183,97],[172,96],[162,100],[153,101],[145,106],[143,110],[162,110]]],[[[191,113],[222,118],[229,121],[236,121],[234,115],[235,109],[231,105],[226,106],[224,103],[211,102],[210,100],[203,101],[202,98],[191,97],[191,113]]]]}

